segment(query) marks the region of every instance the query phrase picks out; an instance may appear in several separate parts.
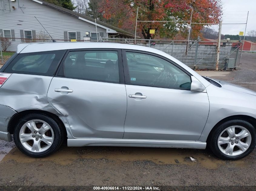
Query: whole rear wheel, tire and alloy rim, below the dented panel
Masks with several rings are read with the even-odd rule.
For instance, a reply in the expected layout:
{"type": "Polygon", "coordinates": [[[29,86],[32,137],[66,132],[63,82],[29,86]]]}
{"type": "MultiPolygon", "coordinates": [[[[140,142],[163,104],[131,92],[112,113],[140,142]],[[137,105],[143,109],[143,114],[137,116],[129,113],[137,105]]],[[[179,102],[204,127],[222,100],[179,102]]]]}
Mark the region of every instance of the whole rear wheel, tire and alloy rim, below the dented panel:
{"type": "Polygon", "coordinates": [[[54,119],[32,113],[23,116],[15,128],[14,141],[20,151],[31,157],[46,157],[56,151],[63,132],[54,119]]]}

